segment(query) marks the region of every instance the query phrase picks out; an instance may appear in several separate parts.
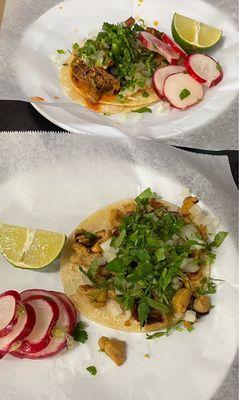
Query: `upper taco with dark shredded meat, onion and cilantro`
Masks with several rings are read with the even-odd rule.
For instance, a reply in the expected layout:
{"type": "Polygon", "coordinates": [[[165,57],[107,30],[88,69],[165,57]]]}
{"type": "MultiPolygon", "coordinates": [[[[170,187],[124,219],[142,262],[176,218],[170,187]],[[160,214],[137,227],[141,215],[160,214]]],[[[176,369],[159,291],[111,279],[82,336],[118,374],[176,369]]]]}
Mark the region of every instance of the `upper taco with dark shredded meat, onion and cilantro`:
{"type": "Polygon", "coordinates": [[[61,85],[73,101],[96,112],[130,112],[159,101],[152,76],[168,65],[159,53],[138,40],[148,29],[129,18],[121,24],[104,23],[95,39],[75,43],[63,65],[61,85]]]}

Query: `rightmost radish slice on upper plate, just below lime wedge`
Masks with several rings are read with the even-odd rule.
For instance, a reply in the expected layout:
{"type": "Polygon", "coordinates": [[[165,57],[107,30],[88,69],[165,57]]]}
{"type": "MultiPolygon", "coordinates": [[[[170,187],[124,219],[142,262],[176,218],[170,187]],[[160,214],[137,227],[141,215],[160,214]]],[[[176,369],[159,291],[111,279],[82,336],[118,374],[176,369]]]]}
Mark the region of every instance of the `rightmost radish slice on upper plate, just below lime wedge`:
{"type": "Polygon", "coordinates": [[[194,79],[207,87],[216,86],[223,78],[220,64],[205,54],[192,54],[185,59],[185,67],[194,79]]]}

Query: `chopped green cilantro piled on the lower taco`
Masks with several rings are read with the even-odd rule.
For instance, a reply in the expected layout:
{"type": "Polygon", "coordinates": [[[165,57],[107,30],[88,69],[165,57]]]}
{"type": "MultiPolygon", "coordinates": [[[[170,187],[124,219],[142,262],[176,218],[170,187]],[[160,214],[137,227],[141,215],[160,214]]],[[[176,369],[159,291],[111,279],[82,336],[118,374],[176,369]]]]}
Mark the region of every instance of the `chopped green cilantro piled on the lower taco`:
{"type": "MultiPolygon", "coordinates": [[[[188,279],[182,264],[192,259],[193,246],[200,244],[201,249],[200,257],[194,259],[195,264],[211,263],[215,254],[211,244],[199,238],[197,232],[190,240],[184,238],[183,228],[187,222],[183,216],[163,206],[150,188],[140,193],[135,203],[135,211],[122,218],[117,235],[111,239],[111,246],[118,251],[115,258],[104,265],[105,273],[100,279],[96,277],[100,258],[90,264],[87,272],[79,268],[95,289],[116,291],[115,300],[144,326],[164,314],[171,315],[172,298],[177,291],[174,281],[188,279]]],[[[224,237],[225,232],[216,235],[213,247],[220,245],[224,237]]],[[[197,290],[199,294],[215,293],[214,280],[204,278],[197,290]]],[[[173,329],[180,329],[180,326],[173,329]]],[[[171,328],[155,337],[170,332],[171,328]]]]}

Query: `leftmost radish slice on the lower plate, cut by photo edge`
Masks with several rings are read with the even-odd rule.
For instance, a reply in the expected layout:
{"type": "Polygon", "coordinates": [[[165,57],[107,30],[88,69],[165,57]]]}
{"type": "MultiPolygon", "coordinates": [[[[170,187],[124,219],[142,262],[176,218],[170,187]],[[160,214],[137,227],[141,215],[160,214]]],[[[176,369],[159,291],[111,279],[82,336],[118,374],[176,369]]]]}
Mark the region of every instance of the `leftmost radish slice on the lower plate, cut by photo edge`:
{"type": "Polygon", "coordinates": [[[0,338],[12,332],[17,323],[17,309],[21,296],[15,290],[0,294],[0,338]]]}

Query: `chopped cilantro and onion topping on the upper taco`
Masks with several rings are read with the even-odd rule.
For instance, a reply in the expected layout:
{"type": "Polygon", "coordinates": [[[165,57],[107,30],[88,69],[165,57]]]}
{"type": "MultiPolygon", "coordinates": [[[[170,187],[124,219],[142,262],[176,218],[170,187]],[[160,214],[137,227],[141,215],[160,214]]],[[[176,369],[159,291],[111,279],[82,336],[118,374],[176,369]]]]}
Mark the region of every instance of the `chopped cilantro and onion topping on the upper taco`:
{"type": "Polygon", "coordinates": [[[119,101],[124,94],[137,92],[150,86],[150,79],[157,68],[155,54],[138,41],[143,28],[135,23],[131,27],[123,23],[105,22],[95,39],[88,39],[83,47],[73,45],[77,57],[89,67],[108,68],[114,66],[114,75],[121,83],[119,101]]]}

